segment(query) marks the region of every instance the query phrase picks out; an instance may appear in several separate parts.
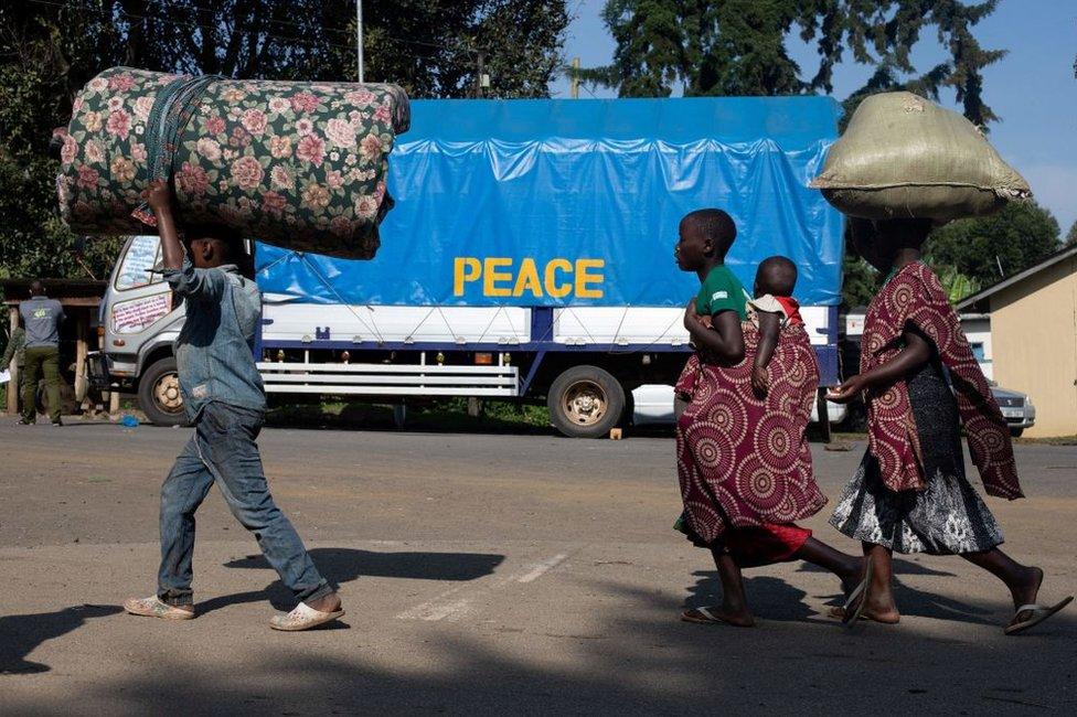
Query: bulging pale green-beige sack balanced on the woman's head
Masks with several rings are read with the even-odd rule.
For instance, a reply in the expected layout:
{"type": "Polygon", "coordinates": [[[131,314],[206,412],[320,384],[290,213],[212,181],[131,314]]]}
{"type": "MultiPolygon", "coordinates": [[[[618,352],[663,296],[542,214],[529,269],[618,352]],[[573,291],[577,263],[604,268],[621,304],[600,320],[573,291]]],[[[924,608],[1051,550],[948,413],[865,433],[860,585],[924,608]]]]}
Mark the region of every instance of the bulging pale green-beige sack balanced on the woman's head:
{"type": "Polygon", "coordinates": [[[975,216],[1032,195],[972,122],[905,92],[861,103],[811,186],[872,220],[975,216]]]}

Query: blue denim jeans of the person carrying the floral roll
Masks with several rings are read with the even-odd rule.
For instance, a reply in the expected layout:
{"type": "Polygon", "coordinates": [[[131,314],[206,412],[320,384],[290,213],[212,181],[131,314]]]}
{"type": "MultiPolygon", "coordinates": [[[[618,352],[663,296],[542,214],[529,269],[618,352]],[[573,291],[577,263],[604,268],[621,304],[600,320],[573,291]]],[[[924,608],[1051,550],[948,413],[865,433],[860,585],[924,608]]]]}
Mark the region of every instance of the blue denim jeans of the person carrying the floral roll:
{"type": "Polygon", "coordinates": [[[255,439],[260,411],[212,402],[161,489],[161,570],[158,595],[190,604],[194,512],[216,482],[232,514],[255,534],[263,555],[299,600],[332,591],[318,574],[302,541],[273,502],[255,439]]]}

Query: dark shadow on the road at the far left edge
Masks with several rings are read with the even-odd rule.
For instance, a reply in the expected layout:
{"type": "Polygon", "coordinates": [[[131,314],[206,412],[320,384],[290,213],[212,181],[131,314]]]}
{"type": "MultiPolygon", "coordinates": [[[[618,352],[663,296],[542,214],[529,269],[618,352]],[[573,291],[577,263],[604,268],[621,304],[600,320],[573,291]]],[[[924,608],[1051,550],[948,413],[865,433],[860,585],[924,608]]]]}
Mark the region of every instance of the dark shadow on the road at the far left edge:
{"type": "Polygon", "coordinates": [[[0,617],[0,675],[49,672],[52,667],[26,660],[38,645],[81,628],[89,618],[121,612],[114,604],[77,604],[55,612],[0,617]]]}

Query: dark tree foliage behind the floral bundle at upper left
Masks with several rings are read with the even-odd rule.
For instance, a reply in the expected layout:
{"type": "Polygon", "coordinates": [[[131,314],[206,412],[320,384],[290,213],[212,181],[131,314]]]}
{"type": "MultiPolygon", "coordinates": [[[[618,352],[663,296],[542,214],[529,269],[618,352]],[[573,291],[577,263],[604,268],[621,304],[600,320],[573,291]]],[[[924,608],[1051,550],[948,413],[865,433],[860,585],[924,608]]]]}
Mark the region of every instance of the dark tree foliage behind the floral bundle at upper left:
{"type": "MultiPolygon", "coordinates": [[[[466,97],[479,53],[493,97],[544,97],[561,66],[564,0],[364,3],[364,79],[412,97],[466,97]]],[[[24,0],[0,3],[0,272],[107,272],[115,239],[60,220],[47,156],[78,89],[103,69],[355,81],[353,0],[24,0]]]]}

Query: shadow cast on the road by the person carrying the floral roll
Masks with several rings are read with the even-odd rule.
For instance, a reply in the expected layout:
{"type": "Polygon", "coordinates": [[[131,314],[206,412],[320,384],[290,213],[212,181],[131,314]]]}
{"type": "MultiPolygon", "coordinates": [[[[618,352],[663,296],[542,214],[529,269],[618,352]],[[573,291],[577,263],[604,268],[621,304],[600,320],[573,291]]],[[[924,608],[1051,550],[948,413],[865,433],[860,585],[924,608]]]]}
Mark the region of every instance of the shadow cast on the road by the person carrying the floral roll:
{"type": "MultiPolygon", "coordinates": [[[[439,580],[460,582],[478,580],[493,574],[504,561],[503,555],[492,553],[377,553],[355,548],[312,548],[310,557],[318,571],[333,586],[352,582],[361,577],[403,578],[407,580],[439,580]]],[[[224,564],[226,568],[270,570],[263,555],[248,555],[224,564]]],[[[269,600],[278,610],[295,607],[295,597],[280,580],[265,590],[252,590],[220,596],[200,602],[199,614],[232,604],[269,600]]]]}

